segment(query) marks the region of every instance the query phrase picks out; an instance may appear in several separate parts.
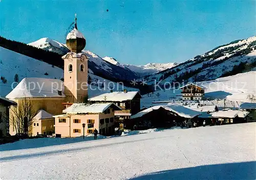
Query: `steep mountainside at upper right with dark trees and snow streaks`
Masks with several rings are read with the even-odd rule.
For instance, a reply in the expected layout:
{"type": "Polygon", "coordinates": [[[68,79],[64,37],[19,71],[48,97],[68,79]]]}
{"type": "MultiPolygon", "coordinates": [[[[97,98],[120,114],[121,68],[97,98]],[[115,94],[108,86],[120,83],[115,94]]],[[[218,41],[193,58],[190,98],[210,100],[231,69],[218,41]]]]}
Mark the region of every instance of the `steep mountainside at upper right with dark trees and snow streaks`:
{"type": "Polygon", "coordinates": [[[233,70],[234,65],[241,62],[247,63],[248,69],[251,63],[256,62],[256,36],[244,40],[233,41],[205,54],[198,55],[185,61],[172,69],[154,74],[146,81],[148,84],[174,81],[205,81],[214,80],[223,74],[233,70]]]}

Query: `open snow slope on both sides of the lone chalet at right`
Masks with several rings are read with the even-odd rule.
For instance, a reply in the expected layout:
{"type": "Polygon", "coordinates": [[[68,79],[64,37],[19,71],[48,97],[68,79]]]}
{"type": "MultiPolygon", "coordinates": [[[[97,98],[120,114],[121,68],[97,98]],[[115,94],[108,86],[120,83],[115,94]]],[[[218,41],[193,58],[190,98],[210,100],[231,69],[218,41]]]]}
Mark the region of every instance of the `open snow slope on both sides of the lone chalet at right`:
{"type": "MultiPolygon", "coordinates": [[[[206,104],[215,104],[223,107],[223,99],[226,99],[226,107],[239,107],[242,102],[251,102],[249,96],[252,97],[254,95],[256,97],[256,71],[240,73],[211,81],[196,82],[196,84],[206,88],[205,98],[210,100],[202,102],[206,104]]],[[[177,102],[180,98],[180,89],[162,89],[161,91],[154,92],[154,94],[143,95],[141,108],[177,102]]],[[[252,101],[256,102],[256,99],[252,101]]]]}

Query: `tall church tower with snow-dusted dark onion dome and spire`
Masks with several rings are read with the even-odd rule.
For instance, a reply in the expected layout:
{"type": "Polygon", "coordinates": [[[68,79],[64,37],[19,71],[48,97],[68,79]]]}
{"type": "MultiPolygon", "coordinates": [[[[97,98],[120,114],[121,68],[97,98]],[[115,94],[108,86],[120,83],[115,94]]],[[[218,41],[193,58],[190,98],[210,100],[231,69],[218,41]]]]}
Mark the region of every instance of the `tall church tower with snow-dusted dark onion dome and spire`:
{"type": "Polygon", "coordinates": [[[64,86],[66,101],[84,102],[88,99],[88,57],[82,52],[86,39],[75,28],[67,35],[66,44],[71,52],[62,56],[64,60],[64,86]]]}

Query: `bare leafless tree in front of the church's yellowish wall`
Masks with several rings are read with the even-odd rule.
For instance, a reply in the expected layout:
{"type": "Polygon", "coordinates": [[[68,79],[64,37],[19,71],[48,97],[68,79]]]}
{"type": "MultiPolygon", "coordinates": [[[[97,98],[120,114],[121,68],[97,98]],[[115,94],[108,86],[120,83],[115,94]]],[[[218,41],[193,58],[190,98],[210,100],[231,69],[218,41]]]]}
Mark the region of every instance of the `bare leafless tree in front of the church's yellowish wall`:
{"type": "Polygon", "coordinates": [[[33,108],[32,102],[28,98],[19,100],[16,106],[10,108],[10,126],[12,126],[16,133],[28,134],[32,129],[33,117],[36,111],[33,108]]]}

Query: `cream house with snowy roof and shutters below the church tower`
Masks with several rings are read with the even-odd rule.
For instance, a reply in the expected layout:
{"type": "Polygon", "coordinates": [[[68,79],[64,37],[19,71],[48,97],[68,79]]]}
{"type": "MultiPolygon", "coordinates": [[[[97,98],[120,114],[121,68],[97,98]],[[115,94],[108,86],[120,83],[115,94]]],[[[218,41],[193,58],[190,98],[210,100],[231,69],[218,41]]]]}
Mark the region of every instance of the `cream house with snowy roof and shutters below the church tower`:
{"type": "Polygon", "coordinates": [[[65,114],[54,116],[55,135],[61,138],[83,136],[83,123],[85,135],[93,133],[94,129],[102,135],[114,134],[116,110],[121,108],[114,103],[74,103],[63,110],[65,114]]]}

